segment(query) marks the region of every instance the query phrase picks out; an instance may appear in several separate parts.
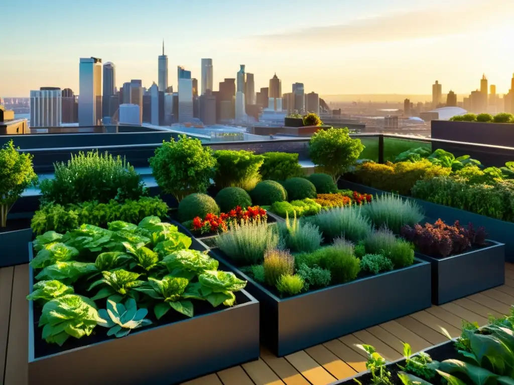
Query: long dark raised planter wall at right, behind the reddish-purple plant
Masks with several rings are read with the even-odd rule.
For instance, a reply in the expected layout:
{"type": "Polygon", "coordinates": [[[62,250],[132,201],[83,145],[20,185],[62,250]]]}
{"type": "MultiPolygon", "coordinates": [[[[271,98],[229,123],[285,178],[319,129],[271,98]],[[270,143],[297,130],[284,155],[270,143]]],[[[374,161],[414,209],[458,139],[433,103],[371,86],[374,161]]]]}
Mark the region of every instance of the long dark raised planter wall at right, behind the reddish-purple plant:
{"type": "MultiPolygon", "coordinates": [[[[338,187],[353,189],[373,195],[381,195],[385,193],[385,191],[377,190],[376,188],[348,182],[342,179],[339,180],[338,187]]],[[[470,211],[461,210],[460,208],[444,206],[412,197],[402,196],[402,198],[416,202],[421,208],[423,208],[425,216],[430,220],[437,220],[440,218],[450,224],[453,224],[453,222],[458,220],[462,225],[467,225],[471,222],[475,227],[485,227],[489,234],[489,238],[505,244],[505,261],[514,263],[514,237],[512,236],[512,234],[514,234],[513,222],[501,221],[499,219],[471,213],[470,211]]]]}

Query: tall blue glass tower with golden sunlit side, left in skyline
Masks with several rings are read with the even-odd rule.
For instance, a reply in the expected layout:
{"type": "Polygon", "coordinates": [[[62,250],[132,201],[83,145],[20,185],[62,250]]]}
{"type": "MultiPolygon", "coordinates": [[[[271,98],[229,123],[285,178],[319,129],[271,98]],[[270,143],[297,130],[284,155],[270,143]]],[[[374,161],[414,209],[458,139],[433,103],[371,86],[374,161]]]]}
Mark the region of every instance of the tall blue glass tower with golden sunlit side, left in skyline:
{"type": "Polygon", "coordinates": [[[82,57],[79,65],[79,125],[96,126],[102,120],[102,59],[82,57]]]}

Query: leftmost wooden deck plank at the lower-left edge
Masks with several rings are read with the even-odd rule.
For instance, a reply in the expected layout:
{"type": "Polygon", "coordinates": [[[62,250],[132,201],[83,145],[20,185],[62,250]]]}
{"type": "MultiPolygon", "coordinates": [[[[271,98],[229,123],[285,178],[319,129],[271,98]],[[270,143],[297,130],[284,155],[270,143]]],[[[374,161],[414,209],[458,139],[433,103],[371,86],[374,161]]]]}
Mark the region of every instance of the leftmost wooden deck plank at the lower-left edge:
{"type": "Polygon", "coordinates": [[[0,379],[4,381],[14,267],[0,268],[0,379]]]}

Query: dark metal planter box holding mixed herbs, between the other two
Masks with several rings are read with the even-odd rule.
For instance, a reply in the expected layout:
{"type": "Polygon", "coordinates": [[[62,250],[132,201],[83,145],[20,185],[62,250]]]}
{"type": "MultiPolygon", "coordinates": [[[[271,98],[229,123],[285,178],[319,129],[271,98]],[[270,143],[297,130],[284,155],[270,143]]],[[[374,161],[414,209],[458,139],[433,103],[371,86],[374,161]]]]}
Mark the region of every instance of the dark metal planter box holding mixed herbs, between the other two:
{"type": "Polygon", "coordinates": [[[431,306],[430,264],[425,261],[279,298],[242,273],[219,249],[211,249],[211,255],[248,281],[246,290],[261,305],[261,341],[279,357],[431,306]]]}

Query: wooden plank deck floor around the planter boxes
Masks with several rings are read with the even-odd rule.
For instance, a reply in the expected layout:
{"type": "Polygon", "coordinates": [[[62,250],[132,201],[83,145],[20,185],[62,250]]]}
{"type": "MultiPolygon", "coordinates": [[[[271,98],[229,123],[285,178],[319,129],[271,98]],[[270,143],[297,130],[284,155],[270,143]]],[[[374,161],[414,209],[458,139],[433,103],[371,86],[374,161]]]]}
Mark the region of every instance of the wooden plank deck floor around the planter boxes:
{"type": "MultiPolygon", "coordinates": [[[[28,265],[0,268],[0,378],[5,385],[26,385],[28,359],[28,265]]],[[[326,385],[365,370],[356,343],[373,345],[387,360],[401,358],[402,343],[413,351],[460,335],[461,320],[487,323],[488,314],[509,314],[514,304],[514,264],[506,264],[505,285],[467,298],[382,323],[315,347],[277,358],[265,348],[261,358],[184,385],[326,385]]]]}

